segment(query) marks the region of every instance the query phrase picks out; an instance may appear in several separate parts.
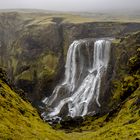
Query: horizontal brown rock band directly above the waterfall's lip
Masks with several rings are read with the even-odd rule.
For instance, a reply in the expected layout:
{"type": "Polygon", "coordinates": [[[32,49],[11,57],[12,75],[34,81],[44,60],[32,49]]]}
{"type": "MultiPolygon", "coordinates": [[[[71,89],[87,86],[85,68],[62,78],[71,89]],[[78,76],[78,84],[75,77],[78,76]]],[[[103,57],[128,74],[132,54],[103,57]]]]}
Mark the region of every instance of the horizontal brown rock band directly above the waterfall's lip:
{"type": "Polygon", "coordinates": [[[91,22],[81,24],[64,24],[64,47],[73,40],[83,38],[117,38],[140,29],[139,23],[91,22]]]}

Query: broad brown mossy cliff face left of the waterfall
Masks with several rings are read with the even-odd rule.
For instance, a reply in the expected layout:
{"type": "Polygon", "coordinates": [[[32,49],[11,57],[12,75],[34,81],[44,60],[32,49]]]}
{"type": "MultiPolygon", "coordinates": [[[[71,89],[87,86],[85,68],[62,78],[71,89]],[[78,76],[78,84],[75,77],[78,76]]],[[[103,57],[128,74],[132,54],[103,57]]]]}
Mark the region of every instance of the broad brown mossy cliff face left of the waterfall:
{"type": "Polygon", "coordinates": [[[32,101],[50,94],[63,63],[59,25],[41,20],[17,13],[0,15],[0,65],[32,101]]]}

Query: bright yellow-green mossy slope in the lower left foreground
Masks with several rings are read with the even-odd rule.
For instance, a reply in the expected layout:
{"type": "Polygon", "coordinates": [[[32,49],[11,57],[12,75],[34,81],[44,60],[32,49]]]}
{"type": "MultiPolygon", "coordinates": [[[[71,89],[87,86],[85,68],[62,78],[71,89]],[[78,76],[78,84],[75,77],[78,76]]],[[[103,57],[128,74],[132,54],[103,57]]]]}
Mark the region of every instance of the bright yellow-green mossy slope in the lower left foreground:
{"type": "Polygon", "coordinates": [[[0,69],[0,139],[68,139],[44,123],[35,108],[9,86],[0,69]]]}

